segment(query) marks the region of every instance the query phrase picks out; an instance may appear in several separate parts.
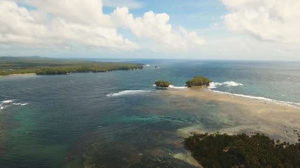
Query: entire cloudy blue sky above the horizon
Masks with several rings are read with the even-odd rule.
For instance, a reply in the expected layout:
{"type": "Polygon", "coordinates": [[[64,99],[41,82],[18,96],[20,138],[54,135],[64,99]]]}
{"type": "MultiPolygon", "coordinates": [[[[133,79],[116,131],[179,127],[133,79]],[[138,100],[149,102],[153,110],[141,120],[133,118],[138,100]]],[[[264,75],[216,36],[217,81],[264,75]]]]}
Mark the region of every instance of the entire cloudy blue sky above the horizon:
{"type": "Polygon", "coordinates": [[[0,56],[300,61],[299,0],[0,0],[0,56]]]}

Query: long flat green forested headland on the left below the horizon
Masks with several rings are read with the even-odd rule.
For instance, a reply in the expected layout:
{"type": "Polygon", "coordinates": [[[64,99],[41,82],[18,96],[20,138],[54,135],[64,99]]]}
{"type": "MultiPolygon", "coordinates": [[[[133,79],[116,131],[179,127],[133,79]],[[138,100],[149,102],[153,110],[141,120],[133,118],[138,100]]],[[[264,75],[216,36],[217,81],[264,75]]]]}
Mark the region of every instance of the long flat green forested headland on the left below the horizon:
{"type": "Polygon", "coordinates": [[[18,73],[67,74],[142,69],[143,64],[52,59],[46,57],[0,57],[0,75],[18,73]]]}

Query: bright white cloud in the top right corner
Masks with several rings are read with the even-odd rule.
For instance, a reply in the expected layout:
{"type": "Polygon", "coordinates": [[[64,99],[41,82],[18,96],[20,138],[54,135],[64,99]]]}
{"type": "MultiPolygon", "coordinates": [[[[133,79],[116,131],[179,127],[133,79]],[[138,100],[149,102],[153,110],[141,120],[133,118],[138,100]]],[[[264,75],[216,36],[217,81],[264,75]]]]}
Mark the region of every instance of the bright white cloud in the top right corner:
{"type": "Polygon", "coordinates": [[[230,11],[225,25],[261,40],[300,42],[299,0],[222,0],[230,11]]]}

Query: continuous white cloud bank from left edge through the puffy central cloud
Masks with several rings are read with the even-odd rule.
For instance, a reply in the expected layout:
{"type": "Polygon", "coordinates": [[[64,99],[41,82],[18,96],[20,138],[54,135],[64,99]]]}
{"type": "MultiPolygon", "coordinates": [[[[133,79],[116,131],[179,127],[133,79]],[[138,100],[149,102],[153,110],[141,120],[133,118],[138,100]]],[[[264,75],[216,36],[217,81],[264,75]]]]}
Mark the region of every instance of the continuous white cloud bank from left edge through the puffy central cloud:
{"type": "MultiPolygon", "coordinates": [[[[118,28],[128,28],[135,36],[168,49],[188,50],[204,43],[196,32],[188,32],[182,27],[173,29],[165,13],[149,11],[143,17],[135,18],[127,7],[122,7],[104,14],[100,0],[19,2],[37,10],[28,10],[14,1],[0,1],[0,43],[76,44],[123,50],[145,48],[118,34],[118,28]]],[[[138,4],[131,3],[129,7],[138,8],[138,4]]]]}

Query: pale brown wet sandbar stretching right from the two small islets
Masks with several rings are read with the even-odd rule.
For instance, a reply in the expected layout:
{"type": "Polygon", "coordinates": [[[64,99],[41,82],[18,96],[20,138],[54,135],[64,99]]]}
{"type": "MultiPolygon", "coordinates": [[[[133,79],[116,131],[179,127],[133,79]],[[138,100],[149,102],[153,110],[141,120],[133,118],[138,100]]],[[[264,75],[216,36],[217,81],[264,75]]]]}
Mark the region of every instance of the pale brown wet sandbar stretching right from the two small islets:
{"type": "MultiPolygon", "coordinates": [[[[263,133],[275,140],[297,142],[300,139],[300,108],[276,104],[251,98],[216,93],[202,88],[170,90],[163,96],[194,98],[197,102],[214,101],[219,106],[216,122],[224,127],[217,130],[205,129],[201,124],[194,124],[177,130],[179,136],[188,137],[193,133],[238,134],[263,133]]],[[[196,113],[196,112],[195,112],[196,113]]]]}

